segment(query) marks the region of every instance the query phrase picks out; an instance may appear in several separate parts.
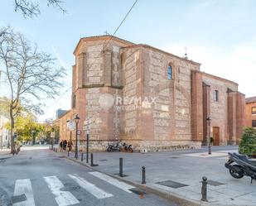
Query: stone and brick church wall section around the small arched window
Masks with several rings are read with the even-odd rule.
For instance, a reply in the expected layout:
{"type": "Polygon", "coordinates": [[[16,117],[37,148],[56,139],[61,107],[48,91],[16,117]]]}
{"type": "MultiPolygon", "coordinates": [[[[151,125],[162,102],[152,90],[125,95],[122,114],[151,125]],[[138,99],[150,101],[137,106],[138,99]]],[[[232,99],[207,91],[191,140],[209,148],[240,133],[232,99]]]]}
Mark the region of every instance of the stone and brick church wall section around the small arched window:
{"type": "Polygon", "coordinates": [[[157,50],[144,52],[144,95],[157,102],[152,105],[152,139],[191,141],[191,69],[198,70],[199,65],[157,50]],[[167,79],[168,65],[172,79],[167,79]]]}

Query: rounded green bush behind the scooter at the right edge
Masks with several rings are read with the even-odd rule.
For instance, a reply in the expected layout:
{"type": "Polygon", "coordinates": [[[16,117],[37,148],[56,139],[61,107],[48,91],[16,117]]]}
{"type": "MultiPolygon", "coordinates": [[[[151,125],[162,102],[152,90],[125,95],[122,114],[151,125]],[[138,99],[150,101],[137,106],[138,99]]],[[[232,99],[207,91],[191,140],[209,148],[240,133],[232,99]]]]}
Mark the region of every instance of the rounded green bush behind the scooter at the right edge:
{"type": "Polygon", "coordinates": [[[239,153],[248,156],[256,155],[256,130],[253,127],[244,128],[239,153]]]}

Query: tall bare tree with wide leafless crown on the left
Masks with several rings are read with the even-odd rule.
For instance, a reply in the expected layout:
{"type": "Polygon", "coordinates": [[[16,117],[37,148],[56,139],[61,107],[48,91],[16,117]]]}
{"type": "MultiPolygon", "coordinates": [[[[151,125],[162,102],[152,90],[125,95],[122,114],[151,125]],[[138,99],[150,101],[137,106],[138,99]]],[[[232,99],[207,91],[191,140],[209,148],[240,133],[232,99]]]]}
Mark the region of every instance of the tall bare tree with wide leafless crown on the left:
{"type": "Polygon", "coordinates": [[[9,113],[11,119],[11,152],[15,151],[13,138],[14,111],[22,107],[41,112],[36,104],[42,98],[54,98],[63,85],[60,79],[65,69],[56,68],[56,59],[15,32],[10,27],[0,29],[0,65],[10,90],[9,113]]]}

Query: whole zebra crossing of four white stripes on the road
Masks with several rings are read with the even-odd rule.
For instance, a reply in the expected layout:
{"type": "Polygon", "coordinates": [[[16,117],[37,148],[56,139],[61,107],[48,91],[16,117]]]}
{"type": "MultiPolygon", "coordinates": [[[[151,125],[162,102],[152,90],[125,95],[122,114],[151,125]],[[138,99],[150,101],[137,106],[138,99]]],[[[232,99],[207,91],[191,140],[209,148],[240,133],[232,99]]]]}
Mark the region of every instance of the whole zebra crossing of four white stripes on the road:
{"type": "MultiPolygon", "coordinates": [[[[114,197],[114,194],[105,191],[100,188],[98,185],[92,183],[93,178],[97,178],[99,181],[104,181],[104,184],[112,184],[116,188],[123,190],[124,192],[131,194],[132,192],[129,189],[133,189],[133,185],[126,184],[119,180],[114,179],[109,175],[105,175],[101,172],[94,171],[88,172],[91,178],[85,179],[77,174],[67,174],[67,177],[74,181],[75,184],[78,184],[81,189],[84,189],[85,192],[92,194],[96,199],[107,199],[114,197]]],[[[59,206],[67,206],[73,204],[80,204],[80,200],[75,197],[75,194],[72,194],[72,191],[65,190],[65,185],[60,181],[56,175],[42,177],[42,180],[46,183],[49,191],[56,200],[56,204],[59,206]]],[[[32,182],[33,183],[33,182],[32,182]]],[[[33,189],[36,189],[36,186],[33,187],[30,179],[16,180],[13,197],[19,195],[26,195],[26,199],[12,204],[13,206],[35,206],[35,199],[33,195],[33,189]]]]}

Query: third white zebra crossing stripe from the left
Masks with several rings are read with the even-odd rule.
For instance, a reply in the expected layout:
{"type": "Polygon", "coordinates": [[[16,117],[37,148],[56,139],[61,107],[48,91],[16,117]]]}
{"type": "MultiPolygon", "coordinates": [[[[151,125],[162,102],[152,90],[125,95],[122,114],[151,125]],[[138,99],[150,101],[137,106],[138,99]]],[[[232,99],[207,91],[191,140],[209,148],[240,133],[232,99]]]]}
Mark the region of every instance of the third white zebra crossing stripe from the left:
{"type": "Polygon", "coordinates": [[[90,194],[93,194],[94,197],[97,199],[104,199],[104,198],[109,198],[113,197],[113,194],[109,194],[105,192],[103,189],[97,188],[94,184],[89,183],[86,181],[84,178],[78,176],[78,175],[69,175],[71,179],[75,180],[77,184],[80,185],[83,189],[88,191],[90,194]]]}

